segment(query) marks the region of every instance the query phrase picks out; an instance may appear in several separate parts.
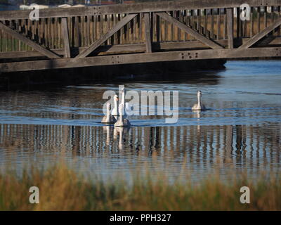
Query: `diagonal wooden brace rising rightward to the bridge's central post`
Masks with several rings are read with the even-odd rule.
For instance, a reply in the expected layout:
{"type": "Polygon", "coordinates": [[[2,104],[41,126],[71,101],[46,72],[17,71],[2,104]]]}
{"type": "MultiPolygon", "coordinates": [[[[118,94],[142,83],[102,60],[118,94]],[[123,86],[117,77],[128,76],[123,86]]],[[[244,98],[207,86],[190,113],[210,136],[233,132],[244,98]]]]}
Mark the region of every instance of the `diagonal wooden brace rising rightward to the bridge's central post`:
{"type": "Polygon", "coordinates": [[[88,49],[86,49],[85,51],[82,51],[81,53],[79,53],[78,56],[76,56],[76,58],[85,58],[86,56],[89,56],[89,54],[91,54],[96,48],[98,48],[98,46],[100,46],[100,44],[103,44],[103,42],[105,42],[107,39],[109,39],[113,34],[115,34],[117,31],[119,31],[122,27],[124,27],[124,25],[126,25],[127,23],[129,23],[133,18],[136,17],[137,14],[129,14],[127,15],[123,20],[121,20],[119,23],[117,23],[117,25],[115,25],[114,27],[112,27],[111,30],[109,30],[106,34],[103,34],[102,37],[100,37],[100,39],[98,39],[97,41],[95,41],[93,44],[91,44],[91,46],[89,46],[88,49]]]}

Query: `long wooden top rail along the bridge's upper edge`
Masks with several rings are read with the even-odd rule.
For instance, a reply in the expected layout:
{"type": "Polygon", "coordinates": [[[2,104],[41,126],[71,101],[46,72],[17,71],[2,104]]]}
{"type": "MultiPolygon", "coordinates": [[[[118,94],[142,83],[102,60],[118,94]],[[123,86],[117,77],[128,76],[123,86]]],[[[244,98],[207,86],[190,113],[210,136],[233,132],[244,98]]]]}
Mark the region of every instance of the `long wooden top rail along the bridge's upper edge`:
{"type": "MultiPolygon", "coordinates": [[[[46,8],[40,9],[40,18],[63,18],[85,15],[105,15],[124,13],[164,12],[204,8],[237,8],[242,0],[177,0],[153,1],[136,4],[112,4],[107,6],[46,8]]],[[[281,6],[281,0],[247,0],[249,6],[281,6]]],[[[31,10],[1,11],[0,20],[28,19],[31,10]]]]}

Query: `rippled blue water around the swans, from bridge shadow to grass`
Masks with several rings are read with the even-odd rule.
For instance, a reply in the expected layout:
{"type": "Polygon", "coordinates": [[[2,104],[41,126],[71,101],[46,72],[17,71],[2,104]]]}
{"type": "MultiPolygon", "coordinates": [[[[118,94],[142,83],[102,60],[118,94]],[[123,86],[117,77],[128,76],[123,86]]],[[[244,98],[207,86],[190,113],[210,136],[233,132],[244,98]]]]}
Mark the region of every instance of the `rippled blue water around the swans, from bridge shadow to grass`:
{"type": "MultiPolygon", "coordinates": [[[[281,63],[230,61],[226,70],[134,77],[127,90],[178,90],[180,119],[130,117],[131,129],[103,127],[104,91],[118,84],[0,94],[0,167],[46,167],[126,177],[148,169],[171,179],[280,172],[281,63]],[[193,113],[197,90],[207,110],[193,113]]],[[[120,77],[120,84],[124,77],[120,77]]]]}

